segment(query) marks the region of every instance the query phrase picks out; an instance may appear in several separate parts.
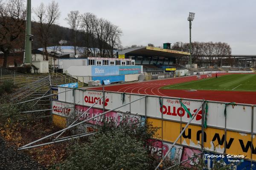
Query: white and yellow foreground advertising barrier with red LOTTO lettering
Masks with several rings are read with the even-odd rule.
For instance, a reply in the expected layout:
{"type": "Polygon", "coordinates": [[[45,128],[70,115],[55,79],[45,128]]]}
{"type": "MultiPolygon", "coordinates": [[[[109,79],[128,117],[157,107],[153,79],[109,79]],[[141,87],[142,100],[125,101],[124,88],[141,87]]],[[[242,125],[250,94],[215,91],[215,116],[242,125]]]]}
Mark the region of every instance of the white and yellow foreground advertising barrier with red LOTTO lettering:
{"type": "MultiPolygon", "coordinates": [[[[69,89],[63,87],[52,88],[55,91],[58,88],[58,92],[69,89]]],[[[58,101],[53,100],[52,106],[54,107],[58,104],[59,107],[65,108],[70,105],[76,105],[76,108],[84,110],[92,106],[102,96],[102,91],[73,89],[73,91],[58,94],[58,101]]],[[[180,100],[174,97],[106,91],[105,102],[101,99],[93,107],[96,110],[89,113],[100,113],[99,110],[102,109],[111,110],[142,96],[146,97],[119,108],[118,111],[114,111],[117,112],[115,114],[128,112],[134,116],[145,117],[147,122],[152,122],[154,126],[161,127],[155,139],[170,144],[175,141],[180,131],[189,121],[190,115],[193,115],[202,103],[202,100],[197,99],[180,100]]],[[[253,116],[254,105],[228,105],[225,102],[207,101],[207,103],[204,103],[204,107],[199,110],[195,119],[192,120],[176,145],[182,146],[183,150],[184,147],[193,148],[200,152],[205,149],[208,152],[216,151],[218,154],[244,155],[247,159],[256,161],[256,116],[253,116]],[[206,105],[208,107],[207,114],[205,114],[204,110],[206,105]],[[225,109],[226,116],[224,115],[225,109]]],[[[61,108],[58,108],[57,111],[52,113],[64,116],[63,113],[67,112],[66,110],[61,110],[61,108]]],[[[111,113],[111,116],[108,115],[107,117],[109,119],[116,118],[115,114],[111,113]]],[[[95,124],[93,122],[90,123],[92,125],[95,124]]]]}

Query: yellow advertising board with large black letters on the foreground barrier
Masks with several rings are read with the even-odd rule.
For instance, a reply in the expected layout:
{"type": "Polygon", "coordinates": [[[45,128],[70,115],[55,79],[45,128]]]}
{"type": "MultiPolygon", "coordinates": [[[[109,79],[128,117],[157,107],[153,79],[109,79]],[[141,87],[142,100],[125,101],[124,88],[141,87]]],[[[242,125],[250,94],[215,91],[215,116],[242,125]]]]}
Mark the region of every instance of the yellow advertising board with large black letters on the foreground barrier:
{"type": "MultiPolygon", "coordinates": [[[[157,131],[156,139],[161,139],[167,142],[174,142],[179,136],[180,131],[186,124],[172,122],[160,119],[148,118],[147,122],[152,122],[154,127],[161,127],[157,131]],[[162,127],[163,125],[163,127],[162,127]]],[[[200,125],[189,125],[177,144],[183,144],[190,147],[201,148],[202,128],[200,125]]],[[[224,153],[225,148],[225,131],[213,127],[207,127],[204,130],[204,149],[224,153]]],[[[256,138],[253,138],[251,143],[251,135],[248,133],[239,133],[227,130],[226,137],[226,153],[230,155],[244,155],[247,159],[256,160],[256,138]],[[251,154],[252,149],[252,158],[251,154]]]]}

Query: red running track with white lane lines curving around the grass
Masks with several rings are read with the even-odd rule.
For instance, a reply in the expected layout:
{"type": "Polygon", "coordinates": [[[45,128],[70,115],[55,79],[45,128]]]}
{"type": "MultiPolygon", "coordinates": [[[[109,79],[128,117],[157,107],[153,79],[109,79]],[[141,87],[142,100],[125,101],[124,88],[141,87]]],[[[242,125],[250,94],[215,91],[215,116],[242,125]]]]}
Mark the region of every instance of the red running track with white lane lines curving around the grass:
{"type": "MultiPolygon", "coordinates": [[[[218,74],[224,75],[224,74],[218,74]]],[[[215,74],[212,74],[215,76],[215,74]]],[[[207,78],[207,75],[201,75],[201,78],[207,78]]],[[[256,105],[256,92],[250,91],[188,91],[188,90],[168,90],[160,89],[165,85],[172,85],[182,82],[190,82],[197,80],[196,76],[189,77],[176,77],[170,79],[152,80],[148,82],[137,82],[123,85],[110,85],[105,86],[105,91],[116,91],[124,93],[135,93],[135,94],[148,94],[155,96],[170,96],[187,99],[205,99],[212,101],[221,102],[236,102],[256,105]]],[[[102,90],[99,88],[90,88],[95,90],[102,90]]]]}

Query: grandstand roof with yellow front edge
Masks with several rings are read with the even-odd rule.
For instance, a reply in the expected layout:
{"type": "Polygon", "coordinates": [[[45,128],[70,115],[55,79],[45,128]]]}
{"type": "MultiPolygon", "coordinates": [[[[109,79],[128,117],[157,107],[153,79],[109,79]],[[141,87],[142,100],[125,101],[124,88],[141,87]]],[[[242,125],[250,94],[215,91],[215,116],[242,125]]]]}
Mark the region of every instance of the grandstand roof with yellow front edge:
{"type": "Polygon", "coordinates": [[[187,56],[190,53],[146,46],[146,47],[128,48],[122,51],[118,51],[118,55],[119,54],[125,54],[128,56],[137,55],[137,56],[158,56],[158,57],[182,57],[182,56],[187,56]]]}

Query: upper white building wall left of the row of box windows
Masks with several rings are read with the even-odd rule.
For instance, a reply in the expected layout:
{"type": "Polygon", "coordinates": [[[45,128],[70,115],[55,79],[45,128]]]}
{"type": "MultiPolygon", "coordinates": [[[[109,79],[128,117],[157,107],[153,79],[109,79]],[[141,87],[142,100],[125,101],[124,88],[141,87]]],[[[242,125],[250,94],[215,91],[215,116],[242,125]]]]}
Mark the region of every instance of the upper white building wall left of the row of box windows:
{"type": "Polygon", "coordinates": [[[62,65],[63,73],[66,73],[70,66],[87,65],[87,59],[59,59],[58,65],[62,65]],[[84,61],[84,63],[83,63],[84,61]]]}

